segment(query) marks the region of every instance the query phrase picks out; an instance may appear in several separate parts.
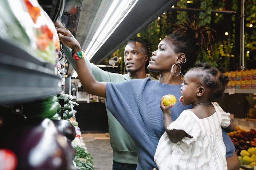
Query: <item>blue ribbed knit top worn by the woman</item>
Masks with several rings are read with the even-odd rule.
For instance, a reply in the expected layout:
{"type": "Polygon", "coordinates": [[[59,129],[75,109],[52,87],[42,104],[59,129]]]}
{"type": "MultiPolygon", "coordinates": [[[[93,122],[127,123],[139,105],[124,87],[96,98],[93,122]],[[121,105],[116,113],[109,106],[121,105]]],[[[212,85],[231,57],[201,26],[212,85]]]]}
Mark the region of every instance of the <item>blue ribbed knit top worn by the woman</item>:
{"type": "MultiPolygon", "coordinates": [[[[154,155],[158,141],[165,132],[160,100],[168,94],[179,100],[181,87],[159,83],[158,80],[151,81],[149,78],[106,84],[107,108],[123,125],[136,146],[139,161],[137,170],[157,168],[154,155]]],[[[171,108],[172,120],[176,120],[182,111],[189,108],[191,105],[183,106],[177,102],[171,108]]],[[[229,154],[226,156],[231,156],[234,153],[232,141],[227,133],[223,133],[223,137],[229,154]]]]}

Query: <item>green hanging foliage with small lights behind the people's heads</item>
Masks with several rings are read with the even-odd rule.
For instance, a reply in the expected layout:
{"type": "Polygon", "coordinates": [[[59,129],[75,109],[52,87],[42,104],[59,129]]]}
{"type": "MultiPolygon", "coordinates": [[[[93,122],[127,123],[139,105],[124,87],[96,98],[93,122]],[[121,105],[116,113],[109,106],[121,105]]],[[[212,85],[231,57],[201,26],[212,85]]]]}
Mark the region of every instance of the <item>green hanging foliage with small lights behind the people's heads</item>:
{"type": "MultiPolygon", "coordinates": [[[[173,31],[174,23],[181,23],[185,21],[187,17],[196,15],[199,17],[199,25],[202,26],[207,24],[209,28],[217,31],[214,35],[215,41],[212,42],[213,52],[203,53],[203,61],[209,62],[217,67],[224,67],[226,71],[239,69],[240,53],[239,47],[240,42],[237,40],[239,33],[236,33],[236,28],[240,25],[240,8],[241,4],[237,0],[193,0],[191,3],[187,3],[187,0],[180,0],[177,2],[175,7],[179,8],[197,8],[203,11],[175,11],[168,10],[159,16],[155,21],[149,24],[145,29],[140,31],[137,36],[147,38],[153,45],[153,50],[150,54],[157,49],[157,45],[161,39],[171,34],[173,31]],[[235,11],[237,14],[224,14],[224,13],[212,13],[212,10],[222,11],[230,10],[235,11]],[[229,35],[224,35],[228,32],[229,35]],[[237,44],[236,44],[237,43],[237,44]]],[[[245,26],[244,26],[244,56],[245,66],[247,69],[255,68],[256,63],[256,0],[245,1],[245,26]],[[250,25],[253,25],[251,27],[250,25]],[[249,52],[247,52],[249,51],[249,52]]],[[[117,56],[124,56],[124,46],[119,48],[115,54],[117,56]]],[[[111,56],[112,57],[112,56],[111,56]]],[[[200,54],[198,61],[200,61],[200,54]]],[[[123,62],[123,61],[122,61],[123,62]]],[[[122,64],[120,62],[119,64],[122,64]]],[[[119,65],[120,66],[120,65],[119,65]]],[[[120,72],[123,73],[123,64],[120,72]]],[[[147,71],[147,70],[146,70],[147,71]]],[[[153,77],[157,77],[159,73],[150,72],[153,77]]]]}

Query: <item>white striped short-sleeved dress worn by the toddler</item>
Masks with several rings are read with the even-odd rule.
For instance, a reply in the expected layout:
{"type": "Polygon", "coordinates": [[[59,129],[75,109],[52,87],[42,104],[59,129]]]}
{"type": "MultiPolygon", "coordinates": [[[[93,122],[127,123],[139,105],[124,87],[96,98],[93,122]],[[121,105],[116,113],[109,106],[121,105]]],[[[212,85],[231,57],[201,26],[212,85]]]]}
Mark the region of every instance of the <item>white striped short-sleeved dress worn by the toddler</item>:
{"type": "Polygon", "coordinates": [[[226,147],[221,127],[230,124],[226,113],[216,102],[212,102],[215,113],[199,119],[193,112],[185,110],[167,129],[183,130],[193,138],[184,137],[172,143],[165,132],[156,149],[154,161],[159,170],[222,170],[227,169],[226,147]]]}

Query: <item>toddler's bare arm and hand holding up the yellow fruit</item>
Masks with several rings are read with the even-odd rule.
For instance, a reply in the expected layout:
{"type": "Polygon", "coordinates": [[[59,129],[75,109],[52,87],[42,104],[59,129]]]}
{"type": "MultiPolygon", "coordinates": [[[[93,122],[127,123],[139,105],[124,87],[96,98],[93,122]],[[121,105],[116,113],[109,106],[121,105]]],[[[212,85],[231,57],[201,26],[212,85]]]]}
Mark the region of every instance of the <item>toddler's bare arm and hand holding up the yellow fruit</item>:
{"type": "Polygon", "coordinates": [[[163,112],[163,125],[165,126],[165,131],[166,131],[170,141],[173,143],[176,143],[176,142],[180,141],[186,135],[186,132],[183,130],[176,130],[176,129],[168,130],[167,129],[167,126],[169,126],[172,123],[172,118],[170,116],[170,114],[171,114],[170,108],[173,106],[173,104],[164,106],[163,105],[164,97],[165,96],[163,96],[161,98],[161,102],[160,102],[160,107],[163,112]]]}

